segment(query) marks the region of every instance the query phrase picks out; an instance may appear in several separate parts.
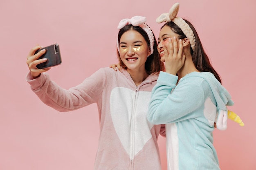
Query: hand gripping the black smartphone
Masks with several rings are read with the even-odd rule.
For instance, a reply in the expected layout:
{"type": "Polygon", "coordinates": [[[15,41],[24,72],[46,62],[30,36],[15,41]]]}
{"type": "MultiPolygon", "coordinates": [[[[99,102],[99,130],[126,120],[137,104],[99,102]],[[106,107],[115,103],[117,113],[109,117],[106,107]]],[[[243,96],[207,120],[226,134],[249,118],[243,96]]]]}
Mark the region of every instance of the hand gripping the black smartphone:
{"type": "Polygon", "coordinates": [[[33,79],[35,79],[36,77],[39,77],[41,73],[48,71],[50,69],[50,67],[44,68],[44,69],[38,69],[36,67],[37,64],[46,62],[46,60],[47,60],[46,58],[37,60],[41,55],[43,55],[45,53],[45,49],[43,49],[35,54],[36,50],[38,50],[40,48],[42,48],[42,47],[39,45],[36,45],[34,48],[32,48],[29,51],[29,54],[27,55],[27,66],[29,67],[29,71],[30,71],[33,79]]]}

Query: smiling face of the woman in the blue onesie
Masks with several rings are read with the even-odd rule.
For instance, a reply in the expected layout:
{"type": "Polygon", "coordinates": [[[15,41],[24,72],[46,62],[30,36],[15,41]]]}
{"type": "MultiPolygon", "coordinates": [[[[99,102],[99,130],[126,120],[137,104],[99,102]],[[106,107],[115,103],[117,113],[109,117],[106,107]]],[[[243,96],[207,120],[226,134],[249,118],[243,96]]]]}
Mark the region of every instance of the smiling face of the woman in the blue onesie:
{"type": "MultiPolygon", "coordinates": [[[[170,28],[170,26],[164,26],[161,29],[161,31],[159,32],[159,38],[157,39],[157,41],[158,41],[157,51],[160,54],[161,62],[165,61],[165,58],[164,58],[165,54],[164,54],[163,46],[165,46],[167,51],[169,51],[169,40],[170,40],[170,38],[173,38],[173,37],[178,38],[179,35],[174,33],[173,30],[170,28]]],[[[177,44],[177,45],[179,46],[179,44],[177,44]]]]}

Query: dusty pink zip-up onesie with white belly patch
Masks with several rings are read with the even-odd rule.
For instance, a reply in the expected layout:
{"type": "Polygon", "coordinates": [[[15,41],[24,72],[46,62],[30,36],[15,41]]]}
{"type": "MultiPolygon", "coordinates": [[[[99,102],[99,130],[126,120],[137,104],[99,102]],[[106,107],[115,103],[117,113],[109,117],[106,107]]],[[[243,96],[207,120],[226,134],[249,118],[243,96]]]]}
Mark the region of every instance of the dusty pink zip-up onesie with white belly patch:
{"type": "MultiPolygon", "coordinates": [[[[157,146],[161,126],[147,120],[151,90],[157,77],[149,75],[136,87],[125,69],[121,73],[101,68],[69,90],[51,81],[47,73],[36,79],[28,73],[26,79],[32,91],[58,111],[97,103],[100,136],[94,170],[161,170],[157,146]]],[[[161,133],[164,132],[163,127],[161,133]]]]}

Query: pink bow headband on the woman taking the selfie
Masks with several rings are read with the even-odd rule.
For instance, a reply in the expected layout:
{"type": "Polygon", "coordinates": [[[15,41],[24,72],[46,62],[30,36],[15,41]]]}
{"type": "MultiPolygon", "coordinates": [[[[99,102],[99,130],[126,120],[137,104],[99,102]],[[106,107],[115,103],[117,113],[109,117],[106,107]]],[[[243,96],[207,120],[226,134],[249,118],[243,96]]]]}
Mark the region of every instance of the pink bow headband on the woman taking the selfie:
{"type": "MultiPolygon", "coordinates": [[[[122,29],[124,26],[128,25],[128,24],[132,24],[132,26],[139,26],[142,29],[144,29],[144,31],[146,31],[146,33],[148,34],[148,38],[150,41],[150,55],[153,54],[154,52],[154,35],[153,32],[151,31],[151,29],[149,28],[148,25],[145,24],[146,22],[146,17],[141,17],[141,16],[134,16],[131,19],[123,19],[119,22],[117,29],[122,29]]],[[[117,49],[119,52],[119,42],[117,40],[117,49]]]]}

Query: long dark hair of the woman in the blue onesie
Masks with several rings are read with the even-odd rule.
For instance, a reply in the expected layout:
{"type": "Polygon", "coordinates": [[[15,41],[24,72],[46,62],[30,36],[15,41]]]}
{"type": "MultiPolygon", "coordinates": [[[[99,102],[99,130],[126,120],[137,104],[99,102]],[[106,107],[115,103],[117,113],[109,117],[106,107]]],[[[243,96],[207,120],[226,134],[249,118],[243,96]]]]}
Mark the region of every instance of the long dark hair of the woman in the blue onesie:
{"type": "MultiPolygon", "coordinates": [[[[193,49],[190,46],[190,53],[191,53],[192,61],[193,61],[194,65],[195,65],[195,67],[200,72],[211,72],[211,73],[213,73],[215,78],[218,79],[218,81],[221,83],[221,78],[218,75],[217,71],[215,71],[215,69],[211,65],[209,57],[207,56],[207,54],[204,51],[204,48],[202,46],[202,43],[201,43],[200,38],[198,36],[198,33],[195,30],[195,27],[188,20],[185,20],[185,19],[183,19],[183,20],[187,24],[189,24],[189,26],[192,29],[192,31],[194,33],[194,36],[195,36],[195,50],[193,51],[193,49]]],[[[179,35],[179,37],[178,37],[179,39],[187,38],[186,35],[180,29],[180,27],[178,27],[174,22],[172,22],[172,21],[166,22],[162,26],[162,28],[165,25],[169,26],[173,30],[174,33],[178,34],[179,35]]]]}

